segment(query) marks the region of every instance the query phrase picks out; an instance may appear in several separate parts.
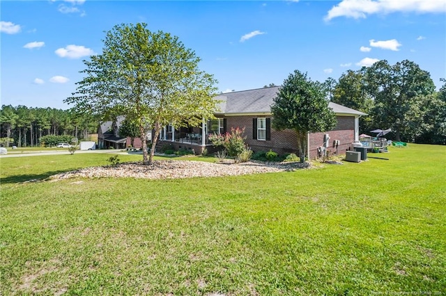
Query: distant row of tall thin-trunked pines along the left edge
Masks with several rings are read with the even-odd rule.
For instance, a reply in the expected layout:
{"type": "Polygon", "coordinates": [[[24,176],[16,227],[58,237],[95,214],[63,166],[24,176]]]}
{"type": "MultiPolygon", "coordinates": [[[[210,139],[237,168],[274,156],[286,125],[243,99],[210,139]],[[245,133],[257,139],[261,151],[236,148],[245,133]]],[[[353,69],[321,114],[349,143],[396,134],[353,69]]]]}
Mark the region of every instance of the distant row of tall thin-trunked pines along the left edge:
{"type": "Polygon", "coordinates": [[[38,147],[43,144],[41,140],[49,135],[89,139],[97,129],[95,117],[72,109],[3,105],[0,110],[0,143],[6,147],[38,147]]]}

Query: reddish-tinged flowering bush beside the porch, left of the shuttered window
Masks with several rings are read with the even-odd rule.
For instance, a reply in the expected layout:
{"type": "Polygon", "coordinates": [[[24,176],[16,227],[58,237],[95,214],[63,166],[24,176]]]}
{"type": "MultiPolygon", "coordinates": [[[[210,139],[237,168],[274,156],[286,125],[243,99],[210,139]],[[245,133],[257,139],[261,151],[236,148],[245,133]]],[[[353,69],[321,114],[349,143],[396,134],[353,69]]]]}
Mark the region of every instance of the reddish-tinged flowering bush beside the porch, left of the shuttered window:
{"type": "Polygon", "coordinates": [[[225,133],[224,135],[210,135],[209,140],[214,146],[224,147],[229,156],[238,157],[247,148],[247,145],[245,144],[246,137],[243,136],[244,132],[245,128],[231,128],[230,133],[225,133]]]}

